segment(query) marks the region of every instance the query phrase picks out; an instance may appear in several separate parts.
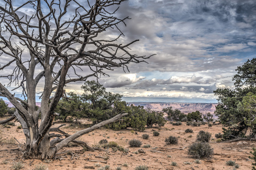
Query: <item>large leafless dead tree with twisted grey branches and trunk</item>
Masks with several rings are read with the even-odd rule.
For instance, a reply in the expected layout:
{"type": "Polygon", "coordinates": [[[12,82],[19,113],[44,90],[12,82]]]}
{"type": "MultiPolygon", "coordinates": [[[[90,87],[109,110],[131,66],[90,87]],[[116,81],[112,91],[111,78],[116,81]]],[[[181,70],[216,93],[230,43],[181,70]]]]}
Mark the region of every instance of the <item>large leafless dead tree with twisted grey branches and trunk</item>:
{"type": "Polygon", "coordinates": [[[54,109],[66,84],[85,81],[90,76],[99,78],[114,67],[128,70],[129,63],[143,62],[150,57],[131,53],[129,45],[138,40],[125,45],[118,42],[123,35],[118,24],[125,24],[128,18],[119,19],[114,14],[124,0],[82,3],[31,0],[20,6],[17,6],[18,1],[3,1],[5,5],[0,6],[0,54],[5,63],[1,63],[0,76],[8,83],[0,83],[0,95],[7,97],[16,108],[14,115],[27,139],[26,158],[51,159],[77,137],[125,116],[118,114],[63,140],[51,138],[54,109]],[[119,34],[113,40],[101,39],[108,29],[119,34]],[[43,87],[41,91],[40,87],[43,87]],[[24,98],[10,90],[22,91],[24,98]],[[42,93],[39,109],[36,108],[38,92],[42,93]]]}

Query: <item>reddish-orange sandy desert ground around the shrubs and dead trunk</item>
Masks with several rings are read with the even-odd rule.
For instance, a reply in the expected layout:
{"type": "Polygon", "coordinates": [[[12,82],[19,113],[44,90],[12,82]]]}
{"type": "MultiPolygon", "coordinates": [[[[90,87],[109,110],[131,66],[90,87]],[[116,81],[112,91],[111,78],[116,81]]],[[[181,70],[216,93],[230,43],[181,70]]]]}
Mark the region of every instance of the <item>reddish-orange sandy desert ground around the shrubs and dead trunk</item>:
{"type": "MultiPolygon", "coordinates": [[[[1,118],[0,120],[3,120],[1,118]]],[[[57,127],[60,124],[55,124],[57,127]]],[[[22,129],[15,126],[6,128],[0,125],[0,169],[13,169],[15,163],[20,162],[24,165],[23,169],[34,169],[42,164],[48,169],[100,169],[109,165],[110,169],[135,169],[138,165],[146,165],[148,169],[236,169],[226,165],[229,160],[235,161],[240,167],[237,169],[251,169],[253,160],[249,159],[250,151],[256,147],[256,142],[238,141],[238,142],[216,142],[214,137],[216,133],[222,132],[222,125],[207,124],[201,126],[187,126],[183,122],[180,126],[167,123],[164,127],[147,128],[145,131],[135,131],[125,129],[120,131],[101,128],[94,130],[80,137],[80,141],[86,142],[89,146],[98,146],[101,139],[107,139],[109,142],[117,142],[119,146],[129,148],[129,152],[124,154],[121,151],[114,151],[112,148],[105,151],[84,151],[80,146],[66,147],[65,154],[57,155],[55,160],[31,160],[22,158],[22,146],[25,142],[22,129]],[[185,129],[192,129],[193,133],[185,133],[185,129]],[[159,131],[158,137],[153,136],[153,131],[159,131]],[[214,154],[210,159],[201,159],[196,163],[196,158],[187,154],[188,146],[196,141],[196,135],[200,130],[208,131],[212,134],[209,142],[213,147],[214,154]],[[142,139],[142,134],[149,134],[148,139],[142,139]],[[164,139],[173,135],[178,138],[177,145],[166,145],[164,139]],[[192,137],[189,137],[192,135],[192,137]],[[16,142],[15,139],[18,141],[16,142]],[[142,142],[141,147],[129,147],[131,139],[139,139],[142,142]],[[144,148],[144,145],[150,145],[144,148]],[[142,149],[144,152],[139,152],[142,149]],[[174,164],[176,163],[176,166],[174,164]]],[[[81,130],[79,126],[61,127],[61,130],[69,134],[81,130]]]]}

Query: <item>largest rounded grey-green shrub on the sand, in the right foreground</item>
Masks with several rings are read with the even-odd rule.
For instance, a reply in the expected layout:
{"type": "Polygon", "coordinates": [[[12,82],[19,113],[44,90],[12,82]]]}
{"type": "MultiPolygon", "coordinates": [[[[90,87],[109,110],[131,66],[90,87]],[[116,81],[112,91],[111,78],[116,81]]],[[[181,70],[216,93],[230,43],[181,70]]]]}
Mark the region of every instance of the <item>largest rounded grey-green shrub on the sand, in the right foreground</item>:
{"type": "Polygon", "coordinates": [[[210,158],[213,154],[213,148],[209,143],[196,142],[189,146],[188,155],[195,156],[197,159],[210,158]]]}

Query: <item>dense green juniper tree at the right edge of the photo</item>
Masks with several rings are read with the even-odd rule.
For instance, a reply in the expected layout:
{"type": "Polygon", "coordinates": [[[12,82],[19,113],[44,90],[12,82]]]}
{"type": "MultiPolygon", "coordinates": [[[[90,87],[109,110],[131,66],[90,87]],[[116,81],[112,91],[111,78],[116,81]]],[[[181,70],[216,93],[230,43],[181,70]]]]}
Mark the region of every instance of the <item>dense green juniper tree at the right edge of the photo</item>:
{"type": "Polygon", "coordinates": [[[238,66],[237,74],[233,76],[234,90],[218,88],[214,91],[218,95],[216,115],[226,128],[224,139],[244,137],[249,131],[251,136],[256,134],[255,126],[255,103],[256,93],[256,59],[246,61],[238,66]]]}

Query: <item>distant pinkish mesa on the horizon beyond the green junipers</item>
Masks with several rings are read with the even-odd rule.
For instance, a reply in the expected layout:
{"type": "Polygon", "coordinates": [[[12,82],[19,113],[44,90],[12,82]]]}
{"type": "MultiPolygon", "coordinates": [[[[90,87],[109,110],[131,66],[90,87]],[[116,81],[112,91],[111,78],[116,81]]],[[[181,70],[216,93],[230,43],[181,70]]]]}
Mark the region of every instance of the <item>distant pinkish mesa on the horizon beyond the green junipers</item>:
{"type": "Polygon", "coordinates": [[[183,113],[191,113],[199,111],[201,113],[214,113],[215,106],[217,103],[147,103],[147,102],[131,102],[135,106],[141,105],[144,108],[150,107],[155,111],[162,111],[162,109],[167,107],[172,107],[172,109],[179,109],[183,113]]]}

